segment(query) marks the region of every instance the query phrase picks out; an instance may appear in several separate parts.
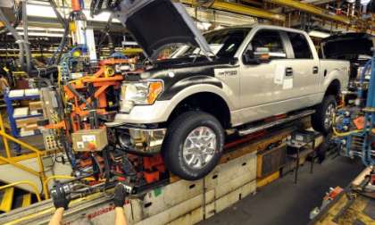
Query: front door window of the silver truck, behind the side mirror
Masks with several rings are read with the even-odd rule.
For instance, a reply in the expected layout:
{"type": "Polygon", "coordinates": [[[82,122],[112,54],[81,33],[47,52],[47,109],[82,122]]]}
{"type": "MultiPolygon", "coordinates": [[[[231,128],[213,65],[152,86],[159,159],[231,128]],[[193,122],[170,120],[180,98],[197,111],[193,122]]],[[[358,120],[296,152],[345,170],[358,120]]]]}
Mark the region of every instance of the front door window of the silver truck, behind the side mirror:
{"type": "Polygon", "coordinates": [[[258,47],[268,47],[271,59],[285,59],[287,54],[282,39],[278,31],[271,29],[261,29],[253,37],[251,50],[255,51],[258,47]]]}

